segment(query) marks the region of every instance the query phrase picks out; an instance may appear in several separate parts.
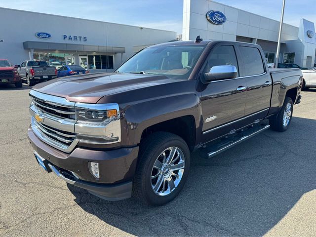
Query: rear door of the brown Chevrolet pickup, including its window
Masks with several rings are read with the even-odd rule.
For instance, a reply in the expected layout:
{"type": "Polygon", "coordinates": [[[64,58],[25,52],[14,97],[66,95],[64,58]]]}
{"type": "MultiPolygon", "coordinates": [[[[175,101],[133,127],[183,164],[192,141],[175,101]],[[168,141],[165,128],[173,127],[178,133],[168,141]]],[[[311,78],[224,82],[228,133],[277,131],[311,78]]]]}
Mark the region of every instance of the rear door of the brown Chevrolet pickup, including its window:
{"type": "Polygon", "coordinates": [[[264,54],[258,46],[239,44],[238,49],[240,61],[243,62],[240,77],[245,79],[247,86],[245,116],[249,116],[249,122],[252,122],[268,114],[272,79],[264,63],[264,54]]]}

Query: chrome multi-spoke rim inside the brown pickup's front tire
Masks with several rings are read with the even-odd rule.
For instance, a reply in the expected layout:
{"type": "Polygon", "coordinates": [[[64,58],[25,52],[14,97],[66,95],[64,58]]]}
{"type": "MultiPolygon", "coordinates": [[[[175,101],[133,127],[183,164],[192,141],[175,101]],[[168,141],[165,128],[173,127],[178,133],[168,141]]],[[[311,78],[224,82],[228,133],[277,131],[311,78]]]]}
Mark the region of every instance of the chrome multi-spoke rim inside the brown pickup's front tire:
{"type": "Polygon", "coordinates": [[[156,159],[151,172],[152,189],[158,196],[166,196],[179,185],[185,167],[180,148],[169,147],[156,159]]]}

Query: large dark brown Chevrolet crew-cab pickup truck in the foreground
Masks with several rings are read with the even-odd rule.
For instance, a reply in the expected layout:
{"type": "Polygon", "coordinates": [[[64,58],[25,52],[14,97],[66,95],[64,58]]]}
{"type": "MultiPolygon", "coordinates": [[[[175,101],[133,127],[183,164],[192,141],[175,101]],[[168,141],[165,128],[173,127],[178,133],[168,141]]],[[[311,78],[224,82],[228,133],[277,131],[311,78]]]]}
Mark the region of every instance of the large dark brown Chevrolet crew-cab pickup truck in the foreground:
{"type": "Polygon", "coordinates": [[[299,69],[270,71],[256,44],[168,42],[113,73],[36,85],[28,136],[37,162],[67,183],[162,205],[183,188],[192,151],[211,158],[268,128],[287,130],[302,83],[299,69]]]}

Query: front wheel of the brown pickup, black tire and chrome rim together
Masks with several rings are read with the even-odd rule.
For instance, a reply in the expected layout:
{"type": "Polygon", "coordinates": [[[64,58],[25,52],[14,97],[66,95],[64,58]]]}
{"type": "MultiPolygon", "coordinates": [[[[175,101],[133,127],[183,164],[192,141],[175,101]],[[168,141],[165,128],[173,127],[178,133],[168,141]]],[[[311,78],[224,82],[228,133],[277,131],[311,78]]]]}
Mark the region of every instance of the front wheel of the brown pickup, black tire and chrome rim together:
{"type": "Polygon", "coordinates": [[[180,193],[189,168],[190,150],[181,137],[153,133],[140,145],[133,194],[149,205],[163,205],[180,193]]]}

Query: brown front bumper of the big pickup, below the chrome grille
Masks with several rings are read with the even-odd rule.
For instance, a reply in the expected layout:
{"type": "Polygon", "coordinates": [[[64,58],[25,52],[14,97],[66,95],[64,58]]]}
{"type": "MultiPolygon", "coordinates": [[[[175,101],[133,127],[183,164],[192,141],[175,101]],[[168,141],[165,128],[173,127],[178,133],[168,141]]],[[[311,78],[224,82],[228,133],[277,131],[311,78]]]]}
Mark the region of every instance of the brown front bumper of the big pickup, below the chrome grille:
{"type": "Polygon", "coordinates": [[[76,148],[67,154],[42,142],[31,127],[28,137],[35,154],[47,163],[48,171],[55,172],[67,183],[107,200],[131,197],[138,147],[111,151],[76,148]],[[99,163],[100,179],[90,173],[88,162],[99,163]]]}

